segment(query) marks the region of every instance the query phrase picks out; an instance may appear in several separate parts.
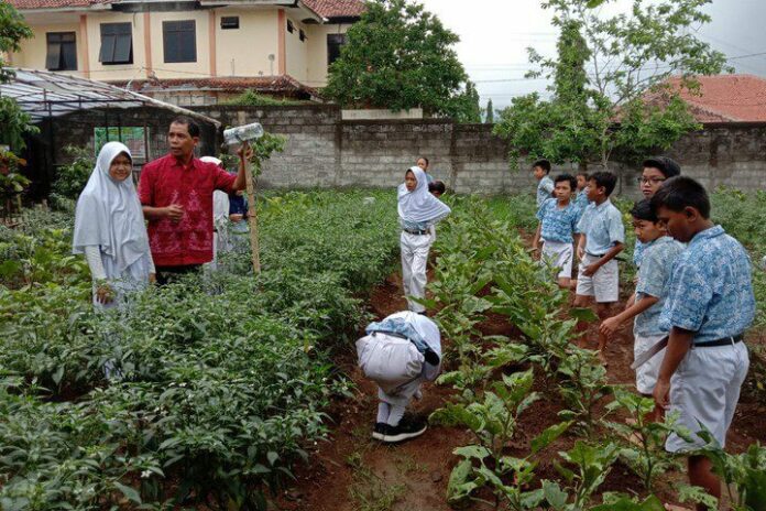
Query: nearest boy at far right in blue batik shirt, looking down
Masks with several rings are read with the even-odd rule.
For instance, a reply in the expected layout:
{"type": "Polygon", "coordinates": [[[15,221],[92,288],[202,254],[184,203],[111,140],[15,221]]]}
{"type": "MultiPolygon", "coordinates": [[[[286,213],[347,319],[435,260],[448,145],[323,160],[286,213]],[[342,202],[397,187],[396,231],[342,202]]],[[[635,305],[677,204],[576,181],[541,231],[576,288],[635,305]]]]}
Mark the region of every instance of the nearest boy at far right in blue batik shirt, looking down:
{"type": "MultiPolygon", "coordinates": [[[[658,406],[680,414],[694,442],[670,435],[665,447],[676,453],[703,446],[696,435],[702,428],[724,447],[749,367],[743,343],[755,316],[749,258],[710,220],[710,199],[694,180],[668,180],[652,206],[670,236],[689,243],[674,265],[659,319],[670,335],[654,398],[658,406]]],[[[688,466],[691,485],[721,497],[710,459],[691,455],[688,466]]]]}

